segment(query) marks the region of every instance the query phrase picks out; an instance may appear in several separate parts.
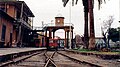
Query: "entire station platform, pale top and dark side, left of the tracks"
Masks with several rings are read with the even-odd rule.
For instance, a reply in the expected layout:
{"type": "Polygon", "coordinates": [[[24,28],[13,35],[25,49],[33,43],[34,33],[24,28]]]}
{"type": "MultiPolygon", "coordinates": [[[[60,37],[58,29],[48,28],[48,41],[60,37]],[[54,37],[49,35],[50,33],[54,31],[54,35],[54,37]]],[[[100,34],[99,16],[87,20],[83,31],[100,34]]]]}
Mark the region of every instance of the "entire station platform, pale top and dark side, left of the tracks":
{"type": "Polygon", "coordinates": [[[0,67],[22,61],[44,50],[46,48],[0,48],[0,67]]]}

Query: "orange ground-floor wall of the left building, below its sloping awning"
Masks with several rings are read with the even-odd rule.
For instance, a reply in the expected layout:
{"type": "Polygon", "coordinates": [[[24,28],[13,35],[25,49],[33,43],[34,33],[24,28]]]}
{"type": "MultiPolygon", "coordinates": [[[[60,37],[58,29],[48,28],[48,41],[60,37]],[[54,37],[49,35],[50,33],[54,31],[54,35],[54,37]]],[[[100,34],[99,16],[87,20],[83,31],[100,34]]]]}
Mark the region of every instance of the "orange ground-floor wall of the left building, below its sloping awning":
{"type": "Polygon", "coordinates": [[[12,42],[14,18],[0,10],[0,47],[10,46],[7,42],[12,42]],[[4,45],[5,44],[5,45],[4,45]]]}

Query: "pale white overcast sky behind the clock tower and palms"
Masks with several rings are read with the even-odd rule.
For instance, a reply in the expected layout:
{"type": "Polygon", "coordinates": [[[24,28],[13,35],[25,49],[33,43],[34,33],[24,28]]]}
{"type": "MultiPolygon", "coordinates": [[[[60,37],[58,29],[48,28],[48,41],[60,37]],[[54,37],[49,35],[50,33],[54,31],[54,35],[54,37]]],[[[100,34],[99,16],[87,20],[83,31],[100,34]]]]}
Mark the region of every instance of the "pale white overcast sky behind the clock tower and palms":
{"type": "MultiPolygon", "coordinates": [[[[82,5],[82,0],[78,1],[77,5],[71,6],[68,3],[66,7],[63,7],[62,0],[21,0],[25,1],[29,6],[34,18],[34,26],[41,27],[42,21],[44,24],[54,23],[55,17],[61,14],[65,17],[64,23],[70,23],[70,13],[71,13],[71,23],[74,24],[74,35],[84,34],[84,10],[82,5]]],[[[98,9],[97,0],[95,0],[94,6],[94,26],[95,26],[95,36],[100,37],[101,26],[104,20],[108,20],[109,16],[114,17],[114,22],[112,27],[116,28],[120,26],[118,22],[120,20],[120,0],[106,0],[106,3],[101,5],[101,9],[98,9]]],[[[63,30],[57,31],[57,33],[64,35],[63,30]]]]}

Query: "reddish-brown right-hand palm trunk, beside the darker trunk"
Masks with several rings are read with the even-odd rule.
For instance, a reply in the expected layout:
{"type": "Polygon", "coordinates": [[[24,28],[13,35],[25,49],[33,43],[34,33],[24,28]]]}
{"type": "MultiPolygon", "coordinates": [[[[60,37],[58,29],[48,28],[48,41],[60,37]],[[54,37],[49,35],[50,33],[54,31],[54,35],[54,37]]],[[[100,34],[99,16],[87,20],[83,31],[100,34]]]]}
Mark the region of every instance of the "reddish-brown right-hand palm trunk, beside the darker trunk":
{"type": "Polygon", "coordinates": [[[90,39],[89,49],[95,48],[95,32],[94,32],[94,14],[93,14],[93,0],[88,0],[89,21],[90,21],[90,39]]]}

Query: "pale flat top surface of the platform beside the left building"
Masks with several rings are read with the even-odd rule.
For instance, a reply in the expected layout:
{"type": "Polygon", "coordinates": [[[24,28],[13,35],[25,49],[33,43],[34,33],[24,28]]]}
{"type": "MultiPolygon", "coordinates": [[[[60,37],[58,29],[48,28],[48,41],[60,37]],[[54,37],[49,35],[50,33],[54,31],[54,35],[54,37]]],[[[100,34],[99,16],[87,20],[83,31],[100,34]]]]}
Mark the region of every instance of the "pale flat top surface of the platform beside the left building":
{"type": "Polygon", "coordinates": [[[0,48],[0,56],[44,49],[46,48],[0,48]]]}

